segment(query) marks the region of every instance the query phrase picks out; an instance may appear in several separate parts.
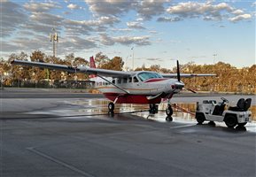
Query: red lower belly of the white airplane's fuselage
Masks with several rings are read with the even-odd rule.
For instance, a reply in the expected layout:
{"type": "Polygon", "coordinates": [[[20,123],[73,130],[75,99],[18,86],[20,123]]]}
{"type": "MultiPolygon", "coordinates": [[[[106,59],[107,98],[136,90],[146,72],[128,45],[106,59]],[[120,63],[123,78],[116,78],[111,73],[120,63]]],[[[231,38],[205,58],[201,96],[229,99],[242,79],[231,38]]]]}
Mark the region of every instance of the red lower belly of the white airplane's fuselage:
{"type": "Polygon", "coordinates": [[[117,104],[159,104],[161,102],[161,97],[156,97],[154,99],[147,99],[147,96],[142,95],[122,95],[116,93],[104,93],[104,96],[110,99],[112,102],[115,100],[117,96],[117,104]]]}

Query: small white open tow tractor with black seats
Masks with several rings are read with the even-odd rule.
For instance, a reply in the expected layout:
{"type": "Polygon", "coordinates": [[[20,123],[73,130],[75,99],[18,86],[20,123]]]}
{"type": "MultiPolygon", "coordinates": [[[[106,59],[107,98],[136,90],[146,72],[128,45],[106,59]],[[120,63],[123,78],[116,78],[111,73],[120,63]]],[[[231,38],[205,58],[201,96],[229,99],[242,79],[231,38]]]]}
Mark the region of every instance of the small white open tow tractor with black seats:
{"type": "Polygon", "coordinates": [[[237,102],[237,106],[225,110],[229,101],[221,97],[222,102],[218,103],[215,100],[205,100],[203,103],[197,103],[196,119],[198,124],[202,124],[205,120],[210,122],[224,121],[227,127],[244,127],[244,125],[251,121],[252,112],[248,111],[251,106],[252,98],[241,98],[237,102]]]}

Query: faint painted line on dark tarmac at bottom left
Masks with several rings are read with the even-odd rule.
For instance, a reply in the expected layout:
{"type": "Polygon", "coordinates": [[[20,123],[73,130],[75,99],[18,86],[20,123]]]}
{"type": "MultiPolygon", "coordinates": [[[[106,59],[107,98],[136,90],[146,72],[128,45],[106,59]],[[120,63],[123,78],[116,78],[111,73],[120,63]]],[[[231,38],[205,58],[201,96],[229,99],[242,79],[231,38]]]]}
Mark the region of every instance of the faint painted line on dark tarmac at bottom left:
{"type": "Polygon", "coordinates": [[[47,159],[49,159],[50,161],[57,163],[58,165],[65,166],[66,168],[68,168],[68,169],[70,169],[70,170],[72,170],[72,171],[74,171],[74,172],[76,172],[76,173],[80,173],[80,174],[82,174],[82,175],[84,175],[84,176],[86,176],[86,177],[94,177],[93,175],[91,175],[91,174],[89,174],[89,173],[86,173],[86,172],[83,172],[83,171],[81,171],[80,169],[74,167],[73,165],[68,165],[68,164],[66,164],[65,162],[61,162],[61,161],[58,160],[57,158],[50,157],[49,155],[44,154],[43,152],[41,152],[41,151],[39,151],[39,150],[35,150],[34,147],[29,147],[29,148],[27,148],[27,150],[30,150],[30,151],[34,152],[35,154],[37,154],[37,155],[39,155],[39,156],[41,156],[41,157],[43,157],[43,158],[47,158],[47,159]]]}

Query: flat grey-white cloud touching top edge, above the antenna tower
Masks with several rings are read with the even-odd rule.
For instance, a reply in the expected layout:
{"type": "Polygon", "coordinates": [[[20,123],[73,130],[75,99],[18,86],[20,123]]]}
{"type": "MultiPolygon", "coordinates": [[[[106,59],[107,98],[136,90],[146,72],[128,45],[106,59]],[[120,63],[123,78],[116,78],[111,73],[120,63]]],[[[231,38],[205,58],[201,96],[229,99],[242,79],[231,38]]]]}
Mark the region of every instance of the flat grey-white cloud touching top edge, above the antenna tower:
{"type": "Polygon", "coordinates": [[[35,3],[35,2],[30,2],[24,4],[24,8],[27,9],[29,12],[49,12],[52,9],[60,9],[61,6],[59,6],[55,2],[49,2],[49,3],[35,3]]]}

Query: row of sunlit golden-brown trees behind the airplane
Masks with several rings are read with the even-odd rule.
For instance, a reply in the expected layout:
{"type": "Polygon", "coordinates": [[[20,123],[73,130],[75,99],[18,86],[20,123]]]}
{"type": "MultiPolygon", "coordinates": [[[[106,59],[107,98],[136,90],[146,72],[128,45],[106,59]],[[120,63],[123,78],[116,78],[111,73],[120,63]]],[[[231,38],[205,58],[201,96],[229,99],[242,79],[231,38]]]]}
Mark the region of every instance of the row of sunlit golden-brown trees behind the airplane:
{"type": "MultiPolygon", "coordinates": [[[[12,53],[9,58],[0,59],[0,76],[4,87],[31,86],[50,87],[59,84],[60,81],[88,81],[89,75],[83,73],[66,73],[62,71],[41,69],[31,66],[11,65],[13,59],[47,62],[59,65],[89,66],[85,58],[75,57],[74,53],[65,58],[47,56],[40,50],[35,50],[28,56],[26,53],[12,53]],[[27,83],[27,85],[25,84],[27,83]]],[[[95,55],[97,68],[122,71],[124,62],[120,57],[108,58],[99,52],[95,55]]],[[[136,71],[154,71],[158,73],[176,73],[176,67],[172,69],[162,68],[160,65],[150,67],[137,67],[136,71]]],[[[235,92],[244,94],[256,93],[256,65],[238,69],[235,66],[219,62],[214,65],[196,65],[193,62],[180,65],[181,73],[216,73],[216,77],[182,78],[186,88],[195,91],[235,92]]]]}

